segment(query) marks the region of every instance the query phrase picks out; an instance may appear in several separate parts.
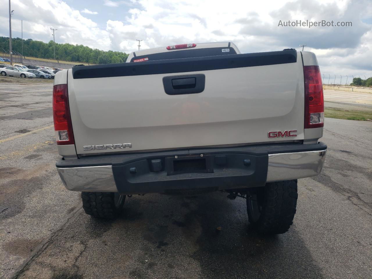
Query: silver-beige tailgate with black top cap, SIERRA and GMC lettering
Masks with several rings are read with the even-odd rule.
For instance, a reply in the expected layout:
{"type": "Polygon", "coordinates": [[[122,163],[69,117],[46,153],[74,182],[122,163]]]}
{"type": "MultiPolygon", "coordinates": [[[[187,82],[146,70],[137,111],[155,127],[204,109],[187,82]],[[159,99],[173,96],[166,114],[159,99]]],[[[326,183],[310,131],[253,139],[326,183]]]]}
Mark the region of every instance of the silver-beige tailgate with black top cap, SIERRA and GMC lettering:
{"type": "Polygon", "coordinates": [[[300,55],[278,51],[74,67],[68,94],[77,153],[302,140],[300,55]],[[202,79],[202,92],[193,93],[202,79]],[[167,94],[167,86],[176,93],[167,94]],[[268,137],[269,131],[288,130],[297,130],[296,136],[268,137]]]}

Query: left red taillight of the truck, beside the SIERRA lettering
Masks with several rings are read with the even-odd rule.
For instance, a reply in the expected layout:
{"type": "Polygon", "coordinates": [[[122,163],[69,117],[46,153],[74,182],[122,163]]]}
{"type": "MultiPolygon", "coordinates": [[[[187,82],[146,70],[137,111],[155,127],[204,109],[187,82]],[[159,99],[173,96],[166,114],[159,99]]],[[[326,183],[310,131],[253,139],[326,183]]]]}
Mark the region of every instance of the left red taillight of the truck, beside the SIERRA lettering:
{"type": "Polygon", "coordinates": [[[74,144],[67,84],[53,86],[53,121],[57,144],[74,144]]]}

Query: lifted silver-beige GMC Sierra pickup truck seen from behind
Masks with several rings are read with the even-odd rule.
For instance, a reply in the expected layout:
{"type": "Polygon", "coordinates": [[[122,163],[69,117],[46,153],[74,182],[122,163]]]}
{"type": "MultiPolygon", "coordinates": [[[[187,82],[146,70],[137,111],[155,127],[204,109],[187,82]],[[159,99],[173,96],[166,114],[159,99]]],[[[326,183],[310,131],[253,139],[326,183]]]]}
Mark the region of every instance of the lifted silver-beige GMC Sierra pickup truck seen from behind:
{"type": "Polygon", "coordinates": [[[320,173],[323,87],[312,52],[241,54],[231,42],[132,52],[55,75],[58,173],[85,212],[115,218],[126,196],[246,198],[263,234],[288,231],[297,179],[320,173]]]}

